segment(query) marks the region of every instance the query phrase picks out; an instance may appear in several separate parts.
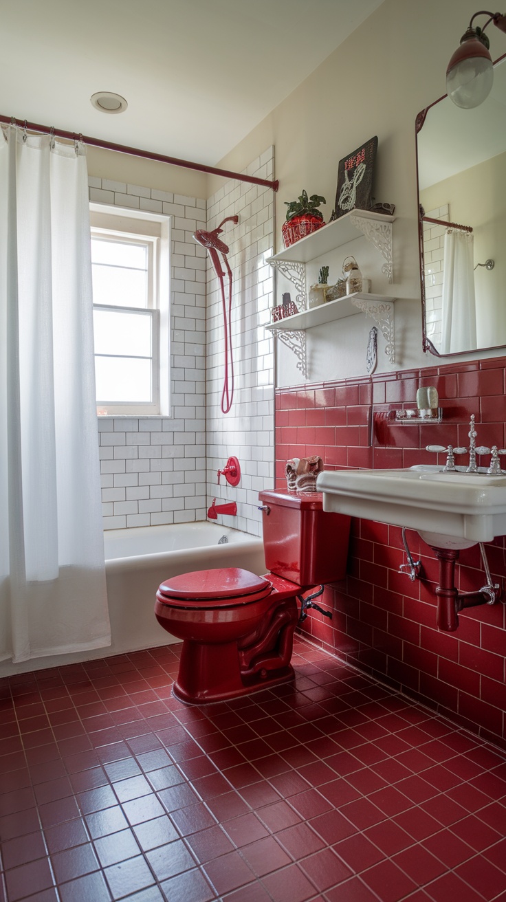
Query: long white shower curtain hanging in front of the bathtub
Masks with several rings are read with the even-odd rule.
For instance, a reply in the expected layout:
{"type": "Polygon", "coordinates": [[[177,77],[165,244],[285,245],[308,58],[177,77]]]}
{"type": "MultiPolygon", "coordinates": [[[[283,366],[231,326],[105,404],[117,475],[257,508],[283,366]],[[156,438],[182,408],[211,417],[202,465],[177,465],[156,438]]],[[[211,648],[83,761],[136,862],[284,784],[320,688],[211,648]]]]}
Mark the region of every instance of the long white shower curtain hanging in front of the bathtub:
{"type": "Polygon", "coordinates": [[[110,644],[84,150],[0,133],[0,659],[110,644]]]}

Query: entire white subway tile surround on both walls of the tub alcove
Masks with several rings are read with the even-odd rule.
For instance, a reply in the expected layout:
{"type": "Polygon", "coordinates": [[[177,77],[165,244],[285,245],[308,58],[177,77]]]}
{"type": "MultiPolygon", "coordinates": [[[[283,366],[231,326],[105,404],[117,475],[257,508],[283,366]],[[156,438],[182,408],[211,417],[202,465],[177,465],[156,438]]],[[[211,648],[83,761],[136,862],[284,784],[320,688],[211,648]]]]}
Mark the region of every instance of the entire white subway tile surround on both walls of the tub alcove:
{"type": "MultiPolygon", "coordinates": [[[[273,148],[245,171],[273,179],[273,148]]],[[[104,529],[205,520],[216,497],[216,503],[237,502],[238,516],[219,521],[261,535],[258,492],[274,484],[273,348],[264,331],[273,302],[273,272],[266,263],[274,244],[273,193],[230,180],[206,204],[110,179],[90,177],[88,183],[92,202],[173,217],[172,416],[98,418],[104,529]],[[221,295],[207,253],[192,235],[235,214],[238,225],[227,223],[222,235],[234,276],[235,362],[234,402],[223,415],[221,295]],[[233,488],[222,477],[218,486],[218,467],[231,455],[239,458],[241,482],[233,488]]]]}

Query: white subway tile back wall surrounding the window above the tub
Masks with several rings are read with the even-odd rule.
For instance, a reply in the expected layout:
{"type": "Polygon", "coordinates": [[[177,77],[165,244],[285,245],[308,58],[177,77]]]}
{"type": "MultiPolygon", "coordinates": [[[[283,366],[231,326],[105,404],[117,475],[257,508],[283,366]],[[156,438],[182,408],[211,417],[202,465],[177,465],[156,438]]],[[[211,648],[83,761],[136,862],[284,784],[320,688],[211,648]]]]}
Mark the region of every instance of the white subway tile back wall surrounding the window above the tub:
{"type": "Polygon", "coordinates": [[[172,216],[170,417],[98,417],[104,529],[206,519],[206,201],[91,177],[96,203],[172,216]]]}

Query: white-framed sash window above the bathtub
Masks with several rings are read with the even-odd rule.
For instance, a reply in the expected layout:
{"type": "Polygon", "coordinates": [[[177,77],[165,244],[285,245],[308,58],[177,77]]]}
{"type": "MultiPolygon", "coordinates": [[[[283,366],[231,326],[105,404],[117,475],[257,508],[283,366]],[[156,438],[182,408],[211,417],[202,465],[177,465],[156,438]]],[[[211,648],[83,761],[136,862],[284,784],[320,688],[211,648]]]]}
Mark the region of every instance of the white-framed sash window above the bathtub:
{"type": "MultiPolygon", "coordinates": [[[[123,210],[119,216],[117,212],[92,216],[95,373],[101,414],[169,413],[169,294],[163,278],[168,261],[165,265],[161,261],[169,244],[161,225],[125,216],[123,210]],[[153,231],[159,234],[146,234],[153,231]]],[[[168,229],[167,222],[165,226],[168,229]]]]}

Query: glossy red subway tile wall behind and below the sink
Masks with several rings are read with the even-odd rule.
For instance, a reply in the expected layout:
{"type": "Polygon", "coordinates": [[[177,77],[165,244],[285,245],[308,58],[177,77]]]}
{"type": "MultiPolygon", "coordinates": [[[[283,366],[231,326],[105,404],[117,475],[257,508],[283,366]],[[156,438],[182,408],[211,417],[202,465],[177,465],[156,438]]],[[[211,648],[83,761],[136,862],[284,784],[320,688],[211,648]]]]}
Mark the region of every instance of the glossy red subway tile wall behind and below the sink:
{"type": "MultiPolygon", "coordinates": [[[[285,461],[319,455],[326,469],[405,467],[444,462],[429,444],[468,445],[474,414],[478,445],[506,446],[506,358],[325,382],[276,391],[276,485],[285,461]],[[420,385],[435,385],[441,425],[402,426],[387,411],[414,407],[420,385]],[[373,428],[372,428],[373,426],[373,428]]],[[[464,459],[457,459],[457,463],[464,459]]],[[[479,458],[480,465],[488,464],[479,458]]],[[[455,633],[436,626],[438,564],[417,532],[409,548],[422,577],[399,573],[406,557],[400,527],[352,520],[346,579],[327,586],[332,621],[311,612],[303,630],[322,648],[378,676],[484,739],[506,747],[506,615],[503,603],[459,615],[455,633]]],[[[494,582],[506,583],[506,543],[486,546],[494,582]]],[[[479,546],[460,554],[459,591],[484,583],[479,546]]]]}

